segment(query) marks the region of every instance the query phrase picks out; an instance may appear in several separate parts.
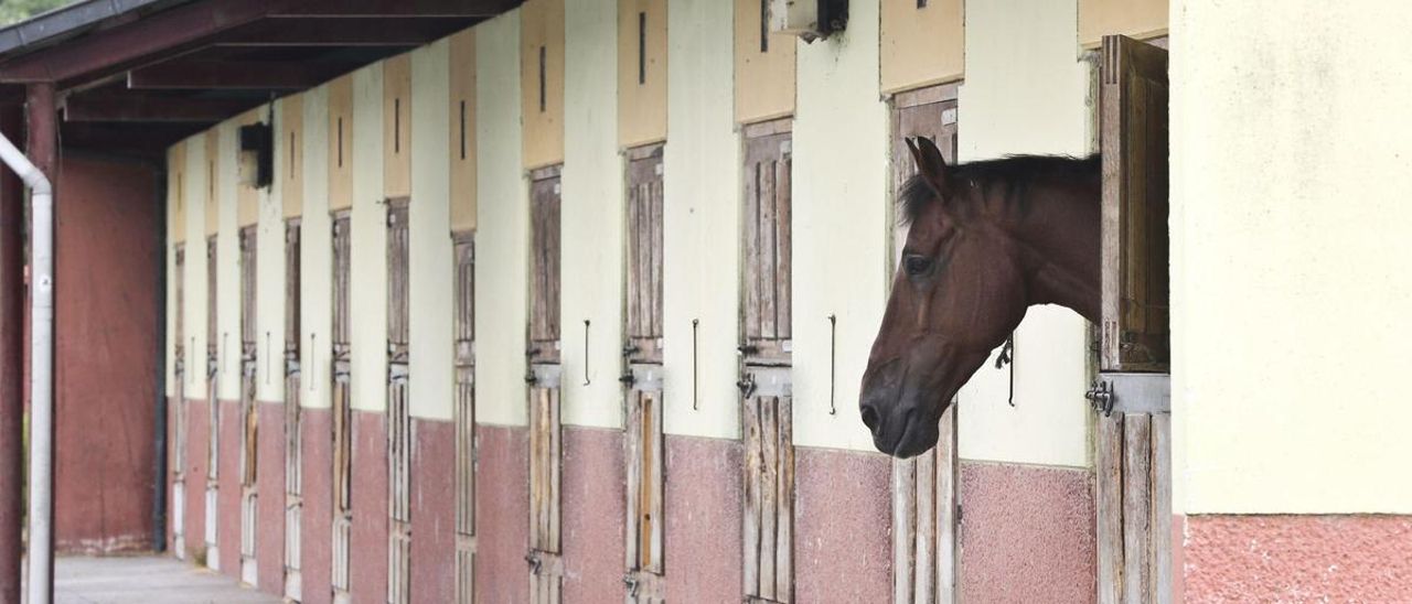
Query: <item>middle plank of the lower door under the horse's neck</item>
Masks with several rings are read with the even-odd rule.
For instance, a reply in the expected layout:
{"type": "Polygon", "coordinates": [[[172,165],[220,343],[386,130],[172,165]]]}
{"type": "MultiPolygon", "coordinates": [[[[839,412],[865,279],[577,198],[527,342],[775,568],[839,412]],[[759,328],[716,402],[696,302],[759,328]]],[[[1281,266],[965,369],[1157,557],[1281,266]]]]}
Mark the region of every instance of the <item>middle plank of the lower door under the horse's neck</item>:
{"type": "Polygon", "coordinates": [[[1152,590],[1151,415],[1123,418],[1123,600],[1148,601],[1152,590]]]}

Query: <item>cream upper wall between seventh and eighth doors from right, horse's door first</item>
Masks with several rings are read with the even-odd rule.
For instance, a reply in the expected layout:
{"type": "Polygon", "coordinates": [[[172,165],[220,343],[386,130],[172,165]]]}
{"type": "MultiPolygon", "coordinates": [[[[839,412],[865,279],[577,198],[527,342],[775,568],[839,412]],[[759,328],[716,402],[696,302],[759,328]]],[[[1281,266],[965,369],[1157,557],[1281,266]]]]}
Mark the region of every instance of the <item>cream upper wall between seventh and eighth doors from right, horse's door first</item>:
{"type": "Polygon", "coordinates": [[[353,216],[349,281],[352,405],[387,408],[387,203],[383,198],[383,64],[353,72],[353,216]]]}

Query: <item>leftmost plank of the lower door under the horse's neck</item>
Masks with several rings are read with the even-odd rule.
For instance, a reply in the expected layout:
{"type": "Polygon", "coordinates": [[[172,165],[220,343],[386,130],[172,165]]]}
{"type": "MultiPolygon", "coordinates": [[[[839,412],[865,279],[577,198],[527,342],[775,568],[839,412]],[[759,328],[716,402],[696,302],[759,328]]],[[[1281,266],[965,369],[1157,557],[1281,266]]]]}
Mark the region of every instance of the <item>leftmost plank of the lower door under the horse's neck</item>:
{"type": "Polygon", "coordinates": [[[1094,446],[1099,604],[1123,601],[1123,415],[1097,418],[1094,446]]]}

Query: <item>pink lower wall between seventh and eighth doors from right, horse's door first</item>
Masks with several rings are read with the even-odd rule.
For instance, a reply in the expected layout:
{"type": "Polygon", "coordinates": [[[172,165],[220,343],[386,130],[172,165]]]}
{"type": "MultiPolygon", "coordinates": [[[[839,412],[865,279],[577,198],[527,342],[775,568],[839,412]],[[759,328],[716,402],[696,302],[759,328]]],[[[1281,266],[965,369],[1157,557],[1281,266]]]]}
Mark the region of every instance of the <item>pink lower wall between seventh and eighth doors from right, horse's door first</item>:
{"type": "Polygon", "coordinates": [[[353,535],[349,591],[356,603],[387,601],[387,423],[353,411],[353,535]]]}

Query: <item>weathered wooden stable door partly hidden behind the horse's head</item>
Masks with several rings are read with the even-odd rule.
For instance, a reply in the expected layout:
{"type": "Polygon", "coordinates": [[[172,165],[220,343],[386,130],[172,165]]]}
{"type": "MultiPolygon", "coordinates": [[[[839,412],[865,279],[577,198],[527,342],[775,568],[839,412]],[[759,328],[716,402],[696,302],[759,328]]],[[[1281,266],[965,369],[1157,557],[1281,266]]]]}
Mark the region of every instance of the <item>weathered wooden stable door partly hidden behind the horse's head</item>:
{"type": "MultiPolygon", "coordinates": [[[[907,138],[936,143],[947,164],[956,164],[956,85],[932,86],[892,97],[892,186],[916,174],[907,138]]],[[[894,202],[895,195],[887,203],[894,202]]],[[[895,268],[907,227],[894,222],[895,268]]],[[[957,600],[956,405],[942,413],[936,447],[918,457],[892,460],[892,601],[942,604],[957,600]]]]}

